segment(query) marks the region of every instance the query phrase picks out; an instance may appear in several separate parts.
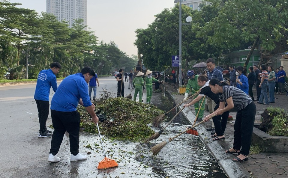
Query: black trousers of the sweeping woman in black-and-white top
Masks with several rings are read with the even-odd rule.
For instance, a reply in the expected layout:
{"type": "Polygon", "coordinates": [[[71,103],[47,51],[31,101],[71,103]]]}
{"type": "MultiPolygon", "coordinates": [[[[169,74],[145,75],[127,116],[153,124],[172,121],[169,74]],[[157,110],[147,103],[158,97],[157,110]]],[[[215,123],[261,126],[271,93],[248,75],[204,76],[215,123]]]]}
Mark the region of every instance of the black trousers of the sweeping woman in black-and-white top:
{"type": "MultiPolygon", "coordinates": [[[[227,103],[226,103],[225,107],[226,106],[227,106],[227,103]]],[[[219,108],[219,103],[215,106],[214,111],[216,111],[216,109],[218,109],[218,108],[219,108]]],[[[216,131],[217,136],[224,135],[226,125],[227,125],[228,116],[229,116],[229,112],[230,111],[226,111],[222,115],[218,115],[218,116],[215,116],[212,118],[213,122],[214,122],[215,131],[216,131]]]]}

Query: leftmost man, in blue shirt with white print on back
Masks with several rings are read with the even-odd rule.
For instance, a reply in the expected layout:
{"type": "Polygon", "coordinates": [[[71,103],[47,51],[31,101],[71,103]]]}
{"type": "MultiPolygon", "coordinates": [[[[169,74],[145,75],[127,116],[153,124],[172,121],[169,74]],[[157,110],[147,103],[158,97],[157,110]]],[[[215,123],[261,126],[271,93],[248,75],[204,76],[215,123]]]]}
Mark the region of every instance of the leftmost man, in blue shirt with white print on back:
{"type": "Polygon", "coordinates": [[[49,115],[49,94],[50,88],[53,91],[57,90],[57,80],[55,74],[59,72],[61,65],[58,62],[54,62],[50,65],[50,69],[41,70],[38,74],[34,99],[36,101],[39,117],[39,138],[50,138],[52,132],[47,130],[46,121],[49,115]]]}

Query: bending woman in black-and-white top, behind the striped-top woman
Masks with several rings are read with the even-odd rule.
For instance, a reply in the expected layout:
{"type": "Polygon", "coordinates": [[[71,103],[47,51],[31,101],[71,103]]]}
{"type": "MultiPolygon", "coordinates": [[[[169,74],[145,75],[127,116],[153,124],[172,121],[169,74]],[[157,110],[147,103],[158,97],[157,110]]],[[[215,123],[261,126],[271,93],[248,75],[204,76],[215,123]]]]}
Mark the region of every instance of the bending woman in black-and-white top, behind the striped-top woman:
{"type": "MultiPolygon", "coordinates": [[[[213,99],[213,101],[216,103],[216,106],[214,108],[214,111],[216,111],[216,109],[219,107],[219,94],[215,94],[211,91],[211,88],[209,86],[209,82],[208,79],[206,78],[205,75],[200,75],[198,77],[198,85],[201,87],[201,91],[199,93],[199,96],[197,96],[192,102],[190,102],[189,104],[184,104],[184,108],[185,107],[189,107],[191,105],[193,105],[194,103],[199,102],[201,99],[204,98],[204,95],[210,97],[211,99],[213,99]]],[[[195,110],[196,112],[196,110],[195,110]]],[[[197,113],[197,112],[196,112],[197,113]]],[[[229,116],[229,111],[224,112],[222,115],[217,115],[215,117],[213,117],[213,122],[215,125],[215,131],[216,133],[211,135],[211,137],[213,138],[213,140],[221,140],[221,139],[225,139],[225,129],[226,129],[226,125],[227,125],[227,120],[228,120],[228,116],[229,116]]]]}

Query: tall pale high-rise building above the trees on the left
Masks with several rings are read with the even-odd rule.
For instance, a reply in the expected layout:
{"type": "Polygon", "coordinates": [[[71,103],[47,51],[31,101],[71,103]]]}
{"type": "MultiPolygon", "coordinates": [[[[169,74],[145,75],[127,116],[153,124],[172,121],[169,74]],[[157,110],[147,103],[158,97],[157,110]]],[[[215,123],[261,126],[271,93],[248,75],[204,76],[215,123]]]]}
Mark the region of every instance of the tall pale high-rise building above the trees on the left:
{"type": "Polygon", "coordinates": [[[60,22],[68,21],[70,28],[74,19],[83,19],[83,25],[87,25],[87,0],[46,0],[46,12],[60,22]]]}

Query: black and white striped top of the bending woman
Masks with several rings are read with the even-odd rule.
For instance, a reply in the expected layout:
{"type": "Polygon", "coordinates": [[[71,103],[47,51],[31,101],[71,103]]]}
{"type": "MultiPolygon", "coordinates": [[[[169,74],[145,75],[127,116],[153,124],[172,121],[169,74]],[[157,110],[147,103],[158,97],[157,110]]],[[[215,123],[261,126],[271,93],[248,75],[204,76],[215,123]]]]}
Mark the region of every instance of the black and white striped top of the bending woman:
{"type": "Polygon", "coordinates": [[[252,99],[239,88],[224,85],[223,93],[220,93],[220,102],[227,102],[226,100],[232,96],[234,107],[241,110],[252,102],[252,99]]]}

